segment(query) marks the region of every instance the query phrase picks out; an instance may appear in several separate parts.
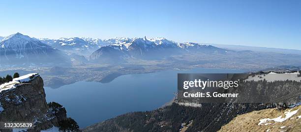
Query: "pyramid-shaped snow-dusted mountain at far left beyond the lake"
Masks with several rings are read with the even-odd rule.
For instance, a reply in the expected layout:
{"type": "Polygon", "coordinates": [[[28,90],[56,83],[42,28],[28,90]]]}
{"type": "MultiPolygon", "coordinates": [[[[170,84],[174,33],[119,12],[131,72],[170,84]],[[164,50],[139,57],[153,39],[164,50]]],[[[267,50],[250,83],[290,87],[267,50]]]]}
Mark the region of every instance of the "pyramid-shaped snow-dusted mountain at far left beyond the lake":
{"type": "Polygon", "coordinates": [[[0,41],[1,66],[34,66],[67,62],[56,48],[21,33],[11,34],[0,41]]]}

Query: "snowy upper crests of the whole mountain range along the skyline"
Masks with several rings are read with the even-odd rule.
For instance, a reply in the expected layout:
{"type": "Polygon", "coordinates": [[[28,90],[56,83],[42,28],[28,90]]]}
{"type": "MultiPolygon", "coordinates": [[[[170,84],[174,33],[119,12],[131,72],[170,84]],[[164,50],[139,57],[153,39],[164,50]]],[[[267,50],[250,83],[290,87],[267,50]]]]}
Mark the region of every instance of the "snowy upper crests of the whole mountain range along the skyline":
{"type": "MultiPolygon", "coordinates": [[[[155,37],[155,38],[147,38],[142,37],[114,37],[109,39],[93,39],[91,37],[61,37],[59,39],[48,39],[48,38],[31,38],[27,35],[23,35],[21,33],[11,34],[6,37],[0,37],[0,48],[11,47],[12,49],[16,49],[20,47],[25,47],[29,42],[33,43],[45,43],[49,46],[53,46],[55,48],[73,48],[73,50],[94,50],[103,46],[115,45],[115,46],[125,46],[126,49],[130,47],[134,42],[136,43],[144,43],[146,47],[155,47],[161,45],[163,47],[180,47],[180,48],[188,48],[188,47],[208,47],[210,45],[185,42],[178,43],[172,40],[168,40],[164,37],[155,37]]],[[[37,45],[42,46],[42,45],[37,45]]],[[[123,48],[124,49],[124,48],[123,48]]]]}

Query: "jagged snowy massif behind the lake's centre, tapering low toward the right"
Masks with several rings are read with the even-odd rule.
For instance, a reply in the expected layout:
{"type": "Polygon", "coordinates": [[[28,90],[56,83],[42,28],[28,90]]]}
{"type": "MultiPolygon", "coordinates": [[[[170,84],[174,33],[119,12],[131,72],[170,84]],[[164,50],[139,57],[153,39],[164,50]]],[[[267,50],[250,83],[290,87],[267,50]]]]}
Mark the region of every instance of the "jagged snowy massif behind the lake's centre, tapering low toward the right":
{"type": "Polygon", "coordinates": [[[108,46],[101,47],[93,52],[90,60],[101,61],[114,56],[114,60],[122,60],[124,57],[134,57],[139,59],[157,60],[170,57],[171,55],[181,54],[184,52],[222,52],[220,49],[211,45],[198,43],[177,43],[165,38],[132,38],[132,39],[111,39],[112,43],[108,46]]]}

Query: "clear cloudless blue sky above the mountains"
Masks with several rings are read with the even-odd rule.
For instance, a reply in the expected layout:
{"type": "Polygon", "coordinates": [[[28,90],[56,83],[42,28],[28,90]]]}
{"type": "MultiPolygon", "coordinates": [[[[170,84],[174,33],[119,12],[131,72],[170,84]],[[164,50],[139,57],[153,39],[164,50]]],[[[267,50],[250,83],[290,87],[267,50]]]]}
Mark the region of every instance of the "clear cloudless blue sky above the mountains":
{"type": "Polygon", "coordinates": [[[6,0],[0,36],[165,37],[301,49],[301,0],[6,0]]]}

